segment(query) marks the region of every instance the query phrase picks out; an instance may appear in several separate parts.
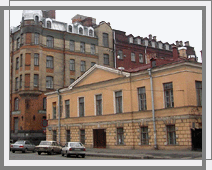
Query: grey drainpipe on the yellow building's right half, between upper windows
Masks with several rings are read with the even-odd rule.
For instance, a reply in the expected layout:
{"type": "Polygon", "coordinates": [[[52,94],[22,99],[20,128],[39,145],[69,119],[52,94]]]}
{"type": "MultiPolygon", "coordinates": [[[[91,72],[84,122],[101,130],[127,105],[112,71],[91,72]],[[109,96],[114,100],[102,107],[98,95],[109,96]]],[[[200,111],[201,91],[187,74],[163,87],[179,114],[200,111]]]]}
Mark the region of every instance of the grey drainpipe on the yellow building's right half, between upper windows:
{"type": "Polygon", "coordinates": [[[153,120],[153,128],[154,128],[154,148],[158,149],[157,146],[157,134],[156,134],[156,125],[155,125],[155,106],[154,106],[154,91],[153,91],[153,83],[152,83],[152,69],[149,68],[149,77],[150,77],[150,86],[151,86],[151,98],[152,98],[152,120],[153,120]]]}

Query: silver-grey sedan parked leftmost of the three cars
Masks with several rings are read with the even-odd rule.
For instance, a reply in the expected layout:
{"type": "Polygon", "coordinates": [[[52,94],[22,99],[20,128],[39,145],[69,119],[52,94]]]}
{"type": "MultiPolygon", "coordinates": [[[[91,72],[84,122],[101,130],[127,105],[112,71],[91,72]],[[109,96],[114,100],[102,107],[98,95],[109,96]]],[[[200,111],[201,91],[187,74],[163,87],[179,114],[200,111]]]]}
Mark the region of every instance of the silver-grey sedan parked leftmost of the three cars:
{"type": "Polygon", "coordinates": [[[18,140],[14,144],[10,145],[10,149],[13,153],[15,153],[15,151],[22,151],[22,153],[27,151],[35,152],[35,145],[30,143],[28,140],[18,140]]]}

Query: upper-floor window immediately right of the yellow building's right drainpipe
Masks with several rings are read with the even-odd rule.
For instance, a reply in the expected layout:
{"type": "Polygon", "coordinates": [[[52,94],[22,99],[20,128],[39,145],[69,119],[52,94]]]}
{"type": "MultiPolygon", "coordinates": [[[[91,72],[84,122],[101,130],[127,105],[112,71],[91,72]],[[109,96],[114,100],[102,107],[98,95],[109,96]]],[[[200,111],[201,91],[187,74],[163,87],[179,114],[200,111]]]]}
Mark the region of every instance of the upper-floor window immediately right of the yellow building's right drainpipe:
{"type": "Polygon", "coordinates": [[[165,108],[174,107],[173,86],[172,83],[164,83],[165,108]]]}

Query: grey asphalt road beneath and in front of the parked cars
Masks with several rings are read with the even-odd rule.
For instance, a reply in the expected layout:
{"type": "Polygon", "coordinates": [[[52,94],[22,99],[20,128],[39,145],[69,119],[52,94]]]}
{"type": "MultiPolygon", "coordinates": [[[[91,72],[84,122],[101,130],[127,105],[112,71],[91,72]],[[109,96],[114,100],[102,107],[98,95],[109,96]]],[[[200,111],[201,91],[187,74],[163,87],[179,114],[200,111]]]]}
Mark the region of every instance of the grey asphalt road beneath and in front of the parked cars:
{"type": "Polygon", "coordinates": [[[9,153],[9,160],[114,160],[114,159],[123,159],[123,158],[110,158],[110,157],[95,157],[95,156],[85,156],[85,158],[78,157],[76,158],[75,156],[70,156],[70,157],[65,157],[62,156],[61,154],[54,154],[54,155],[48,155],[46,153],[42,153],[41,155],[38,155],[36,153],[32,152],[26,152],[22,153],[19,151],[16,151],[15,153],[10,152],[9,153]]]}

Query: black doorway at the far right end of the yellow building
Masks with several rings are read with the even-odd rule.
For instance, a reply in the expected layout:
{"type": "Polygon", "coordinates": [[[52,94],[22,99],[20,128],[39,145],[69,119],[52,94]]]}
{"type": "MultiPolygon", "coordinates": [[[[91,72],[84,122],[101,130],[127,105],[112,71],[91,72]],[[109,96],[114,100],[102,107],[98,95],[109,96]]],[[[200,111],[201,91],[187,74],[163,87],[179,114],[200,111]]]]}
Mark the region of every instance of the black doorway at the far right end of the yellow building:
{"type": "Polygon", "coordinates": [[[191,129],[192,150],[202,150],[202,129],[191,129]]]}

